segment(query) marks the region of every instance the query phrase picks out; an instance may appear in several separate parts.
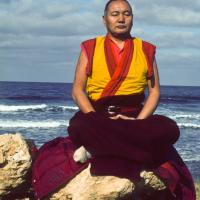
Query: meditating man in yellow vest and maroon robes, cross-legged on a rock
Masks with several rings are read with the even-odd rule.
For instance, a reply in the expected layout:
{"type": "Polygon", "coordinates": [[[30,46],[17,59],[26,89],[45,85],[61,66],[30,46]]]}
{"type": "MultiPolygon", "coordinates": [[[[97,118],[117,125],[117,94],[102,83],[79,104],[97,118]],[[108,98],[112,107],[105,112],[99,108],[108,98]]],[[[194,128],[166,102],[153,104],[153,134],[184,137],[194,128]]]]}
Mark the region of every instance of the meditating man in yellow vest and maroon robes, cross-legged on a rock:
{"type": "Polygon", "coordinates": [[[165,182],[162,199],[194,200],[191,175],[172,146],[179,129],[173,120],[153,115],[160,96],[155,46],[131,36],[133,13],[126,0],[108,1],[103,22],[107,35],[81,45],[72,89],[80,111],[70,120],[69,137],[45,144],[34,163],[36,197],[54,191],[90,162],[94,175],[133,180],[139,198],[160,198],[148,197],[141,184],[151,174],[146,171],[153,171],[165,182]]]}

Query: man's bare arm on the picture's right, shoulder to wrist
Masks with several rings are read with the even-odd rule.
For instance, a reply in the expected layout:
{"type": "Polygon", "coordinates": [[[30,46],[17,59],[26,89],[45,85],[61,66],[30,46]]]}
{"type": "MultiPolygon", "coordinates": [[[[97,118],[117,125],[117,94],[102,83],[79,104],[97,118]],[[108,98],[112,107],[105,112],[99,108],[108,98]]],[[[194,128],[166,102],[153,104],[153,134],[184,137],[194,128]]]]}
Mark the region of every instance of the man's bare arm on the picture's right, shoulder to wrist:
{"type": "Polygon", "coordinates": [[[160,99],[159,75],[156,60],[153,63],[153,76],[148,80],[148,97],[137,119],[145,119],[155,111],[160,99]]]}

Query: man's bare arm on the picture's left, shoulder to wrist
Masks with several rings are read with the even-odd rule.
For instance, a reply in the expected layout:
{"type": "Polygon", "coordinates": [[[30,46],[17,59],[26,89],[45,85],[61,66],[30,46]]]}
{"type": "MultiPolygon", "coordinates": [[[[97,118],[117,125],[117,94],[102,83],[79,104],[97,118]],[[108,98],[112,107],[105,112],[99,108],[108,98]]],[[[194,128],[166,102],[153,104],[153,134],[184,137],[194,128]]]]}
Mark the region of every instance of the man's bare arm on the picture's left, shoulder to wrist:
{"type": "Polygon", "coordinates": [[[87,57],[81,51],[78,63],[76,66],[75,78],[72,87],[72,98],[75,103],[78,105],[80,110],[84,113],[94,111],[86,93],[85,86],[87,82],[86,66],[87,66],[87,57]]]}

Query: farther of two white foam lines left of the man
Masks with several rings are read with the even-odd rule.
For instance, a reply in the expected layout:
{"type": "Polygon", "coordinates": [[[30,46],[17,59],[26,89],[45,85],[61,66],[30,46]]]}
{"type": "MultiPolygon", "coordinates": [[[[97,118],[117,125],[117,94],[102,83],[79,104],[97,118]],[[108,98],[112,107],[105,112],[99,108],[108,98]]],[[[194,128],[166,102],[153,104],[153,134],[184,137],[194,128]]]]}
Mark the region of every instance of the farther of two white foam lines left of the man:
{"type": "Polygon", "coordinates": [[[17,112],[25,110],[36,110],[36,109],[45,109],[46,104],[39,105],[19,105],[19,106],[9,106],[9,105],[0,105],[0,112],[17,112]]]}

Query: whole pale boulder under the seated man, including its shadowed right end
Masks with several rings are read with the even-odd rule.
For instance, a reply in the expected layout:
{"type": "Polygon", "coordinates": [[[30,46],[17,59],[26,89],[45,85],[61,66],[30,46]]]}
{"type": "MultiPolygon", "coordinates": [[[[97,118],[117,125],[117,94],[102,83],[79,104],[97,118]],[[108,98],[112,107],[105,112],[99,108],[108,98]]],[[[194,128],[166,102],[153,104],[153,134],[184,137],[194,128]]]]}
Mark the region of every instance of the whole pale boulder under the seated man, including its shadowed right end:
{"type": "MultiPolygon", "coordinates": [[[[157,199],[165,191],[164,183],[153,172],[143,171],[136,185],[115,176],[92,176],[90,165],[69,183],[49,196],[49,200],[136,200],[157,199]],[[143,198],[141,198],[141,196],[143,198]],[[154,198],[155,197],[155,198],[154,198]]],[[[46,200],[47,200],[46,199],[46,200]]]]}

